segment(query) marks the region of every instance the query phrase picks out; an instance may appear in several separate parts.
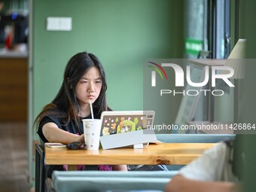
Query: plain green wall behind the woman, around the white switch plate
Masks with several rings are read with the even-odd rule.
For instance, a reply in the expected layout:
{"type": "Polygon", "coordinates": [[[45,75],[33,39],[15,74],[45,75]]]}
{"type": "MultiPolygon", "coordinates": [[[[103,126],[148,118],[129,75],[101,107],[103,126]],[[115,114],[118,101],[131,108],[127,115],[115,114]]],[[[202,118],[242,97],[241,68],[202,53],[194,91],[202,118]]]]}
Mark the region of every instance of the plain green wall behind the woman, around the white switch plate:
{"type": "MultiPolygon", "coordinates": [[[[146,59],[182,56],[180,1],[35,0],[32,9],[34,117],[56,95],[75,53],[86,50],[102,60],[114,110],[143,109],[146,59]],[[72,17],[72,31],[46,31],[47,17],[72,17]]],[[[173,105],[175,119],[179,101],[173,105]]]]}

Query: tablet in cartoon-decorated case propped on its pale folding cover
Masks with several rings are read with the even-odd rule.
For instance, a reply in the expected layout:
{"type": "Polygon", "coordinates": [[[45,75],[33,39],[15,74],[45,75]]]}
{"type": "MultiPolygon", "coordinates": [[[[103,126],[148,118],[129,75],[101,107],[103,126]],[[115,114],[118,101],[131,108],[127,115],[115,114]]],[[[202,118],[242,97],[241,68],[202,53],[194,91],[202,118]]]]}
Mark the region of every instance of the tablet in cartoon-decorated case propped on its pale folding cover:
{"type": "Polygon", "coordinates": [[[101,115],[100,142],[103,149],[129,145],[148,145],[157,141],[154,130],[154,111],[104,111],[101,115]]]}

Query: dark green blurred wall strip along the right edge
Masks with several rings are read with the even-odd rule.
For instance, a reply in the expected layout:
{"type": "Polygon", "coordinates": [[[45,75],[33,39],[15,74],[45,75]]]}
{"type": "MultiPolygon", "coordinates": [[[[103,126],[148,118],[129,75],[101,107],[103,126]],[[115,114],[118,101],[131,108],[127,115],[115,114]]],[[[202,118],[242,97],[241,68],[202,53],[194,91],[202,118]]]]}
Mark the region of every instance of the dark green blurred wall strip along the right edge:
{"type": "MultiPolygon", "coordinates": [[[[254,123],[256,125],[256,89],[255,89],[255,44],[256,44],[256,2],[254,0],[244,0],[241,3],[241,25],[239,27],[241,38],[246,38],[246,54],[248,62],[245,68],[245,111],[242,114],[242,121],[254,123]],[[249,64],[248,64],[249,63],[249,64]]],[[[253,134],[243,135],[243,150],[245,151],[244,167],[244,190],[245,192],[256,191],[256,130],[253,134]]]]}

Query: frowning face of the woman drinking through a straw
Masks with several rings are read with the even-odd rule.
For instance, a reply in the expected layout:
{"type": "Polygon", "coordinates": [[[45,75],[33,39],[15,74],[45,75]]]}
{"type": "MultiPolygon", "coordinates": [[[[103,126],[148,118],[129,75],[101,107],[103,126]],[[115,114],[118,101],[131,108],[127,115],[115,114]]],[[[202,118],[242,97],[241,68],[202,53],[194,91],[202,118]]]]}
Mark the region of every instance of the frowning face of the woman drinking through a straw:
{"type": "Polygon", "coordinates": [[[87,73],[78,81],[75,87],[75,95],[78,98],[79,104],[87,105],[90,101],[93,103],[99,97],[102,89],[102,77],[99,69],[92,67],[87,73]]]}

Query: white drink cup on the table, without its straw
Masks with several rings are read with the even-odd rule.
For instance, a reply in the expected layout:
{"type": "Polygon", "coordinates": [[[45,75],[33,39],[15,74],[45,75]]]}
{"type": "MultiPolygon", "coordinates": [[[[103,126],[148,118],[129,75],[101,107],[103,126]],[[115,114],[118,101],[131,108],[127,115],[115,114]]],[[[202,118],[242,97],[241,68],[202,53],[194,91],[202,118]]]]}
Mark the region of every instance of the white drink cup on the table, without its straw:
{"type": "Polygon", "coordinates": [[[99,136],[102,126],[100,119],[83,119],[84,143],[87,150],[99,150],[99,136]]]}

